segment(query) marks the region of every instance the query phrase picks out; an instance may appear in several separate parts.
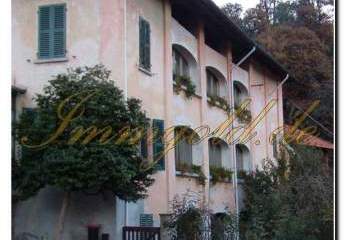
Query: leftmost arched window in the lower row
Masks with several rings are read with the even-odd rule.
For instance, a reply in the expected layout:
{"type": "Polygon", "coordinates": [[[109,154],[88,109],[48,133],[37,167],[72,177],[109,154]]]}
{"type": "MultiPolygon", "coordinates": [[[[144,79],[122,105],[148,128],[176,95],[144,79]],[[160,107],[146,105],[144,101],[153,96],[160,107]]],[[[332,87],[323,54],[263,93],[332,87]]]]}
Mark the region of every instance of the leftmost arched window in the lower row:
{"type": "Polygon", "coordinates": [[[192,143],[185,128],[175,129],[175,159],[177,169],[179,166],[187,164],[192,165],[193,153],[192,143]]]}

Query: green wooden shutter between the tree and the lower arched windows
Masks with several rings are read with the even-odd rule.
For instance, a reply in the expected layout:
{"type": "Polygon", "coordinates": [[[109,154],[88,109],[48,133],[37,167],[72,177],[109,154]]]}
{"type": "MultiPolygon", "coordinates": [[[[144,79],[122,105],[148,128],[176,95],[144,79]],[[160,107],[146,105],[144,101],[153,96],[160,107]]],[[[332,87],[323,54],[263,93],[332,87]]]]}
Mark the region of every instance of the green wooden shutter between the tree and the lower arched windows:
{"type": "Polygon", "coordinates": [[[165,169],[165,158],[164,154],[164,120],[153,119],[152,128],[154,131],[153,139],[153,158],[156,161],[157,169],[165,169]]]}

